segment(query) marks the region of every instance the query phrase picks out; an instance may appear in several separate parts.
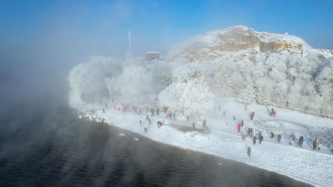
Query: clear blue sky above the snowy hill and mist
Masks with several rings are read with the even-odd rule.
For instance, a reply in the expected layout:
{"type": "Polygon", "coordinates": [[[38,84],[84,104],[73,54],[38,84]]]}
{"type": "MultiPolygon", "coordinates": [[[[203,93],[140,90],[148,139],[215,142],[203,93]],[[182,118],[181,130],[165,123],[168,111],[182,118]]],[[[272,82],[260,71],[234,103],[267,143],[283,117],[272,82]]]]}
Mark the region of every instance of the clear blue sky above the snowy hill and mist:
{"type": "Polygon", "coordinates": [[[234,25],[287,32],[314,48],[333,49],[332,7],[330,0],[5,0],[0,1],[0,32],[9,46],[65,55],[125,56],[129,28],[134,55],[166,54],[197,34],[234,25]]]}

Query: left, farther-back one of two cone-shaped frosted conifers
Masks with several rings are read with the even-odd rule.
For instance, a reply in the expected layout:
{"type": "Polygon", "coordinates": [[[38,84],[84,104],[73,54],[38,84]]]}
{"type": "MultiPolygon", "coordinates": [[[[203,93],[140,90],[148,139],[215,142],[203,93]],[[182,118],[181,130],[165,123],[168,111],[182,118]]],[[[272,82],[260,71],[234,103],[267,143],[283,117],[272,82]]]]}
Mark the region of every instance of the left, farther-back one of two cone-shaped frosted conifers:
{"type": "Polygon", "coordinates": [[[216,89],[224,96],[231,94],[233,91],[233,81],[229,76],[229,70],[222,68],[219,77],[216,80],[216,89]]]}

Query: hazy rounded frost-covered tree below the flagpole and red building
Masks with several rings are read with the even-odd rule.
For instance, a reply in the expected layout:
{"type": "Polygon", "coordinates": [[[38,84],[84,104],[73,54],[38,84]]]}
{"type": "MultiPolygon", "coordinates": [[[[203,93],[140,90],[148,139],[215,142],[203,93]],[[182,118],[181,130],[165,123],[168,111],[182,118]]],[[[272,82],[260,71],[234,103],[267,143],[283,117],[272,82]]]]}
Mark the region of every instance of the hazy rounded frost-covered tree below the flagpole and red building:
{"type": "Polygon", "coordinates": [[[111,93],[119,92],[123,97],[134,97],[151,93],[151,74],[140,66],[124,68],[120,76],[106,79],[105,81],[111,93]]]}

